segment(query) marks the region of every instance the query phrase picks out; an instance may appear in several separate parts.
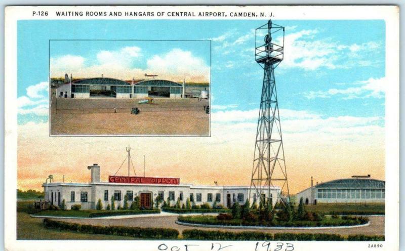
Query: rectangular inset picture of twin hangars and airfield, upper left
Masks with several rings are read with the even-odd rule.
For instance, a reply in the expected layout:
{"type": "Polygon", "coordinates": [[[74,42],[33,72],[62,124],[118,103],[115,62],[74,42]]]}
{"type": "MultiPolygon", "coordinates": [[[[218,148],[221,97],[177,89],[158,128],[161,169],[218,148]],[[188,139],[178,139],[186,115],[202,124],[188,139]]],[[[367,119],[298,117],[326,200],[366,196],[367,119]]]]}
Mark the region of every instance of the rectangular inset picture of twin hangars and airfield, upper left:
{"type": "Polygon", "coordinates": [[[51,136],[210,136],[210,40],[50,40],[51,136]]]}

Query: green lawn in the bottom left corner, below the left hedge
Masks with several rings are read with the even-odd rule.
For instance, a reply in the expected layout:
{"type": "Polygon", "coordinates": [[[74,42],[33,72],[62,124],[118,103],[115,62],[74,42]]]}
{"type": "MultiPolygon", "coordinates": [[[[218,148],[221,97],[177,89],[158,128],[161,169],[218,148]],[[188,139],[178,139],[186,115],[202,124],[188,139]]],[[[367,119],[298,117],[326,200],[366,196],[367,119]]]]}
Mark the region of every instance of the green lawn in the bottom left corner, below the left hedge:
{"type": "Polygon", "coordinates": [[[17,212],[17,239],[19,240],[137,240],[128,236],[83,234],[73,231],[47,229],[43,219],[31,218],[27,213],[17,212]]]}

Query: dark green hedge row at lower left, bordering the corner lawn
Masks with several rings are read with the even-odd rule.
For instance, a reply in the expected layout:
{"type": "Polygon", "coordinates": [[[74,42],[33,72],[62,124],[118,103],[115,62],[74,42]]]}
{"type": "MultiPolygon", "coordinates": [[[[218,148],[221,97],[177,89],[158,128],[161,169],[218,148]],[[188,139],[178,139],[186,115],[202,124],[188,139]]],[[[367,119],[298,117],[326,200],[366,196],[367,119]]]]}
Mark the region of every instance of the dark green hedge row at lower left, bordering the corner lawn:
{"type": "Polygon", "coordinates": [[[77,223],[68,223],[44,219],[46,228],[56,228],[60,230],[71,230],[87,234],[109,234],[120,236],[131,236],[143,239],[177,239],[179,231],[170,228],[140,228],[140,227],[121,227],[121,226],[93,226],[77,223]]]}

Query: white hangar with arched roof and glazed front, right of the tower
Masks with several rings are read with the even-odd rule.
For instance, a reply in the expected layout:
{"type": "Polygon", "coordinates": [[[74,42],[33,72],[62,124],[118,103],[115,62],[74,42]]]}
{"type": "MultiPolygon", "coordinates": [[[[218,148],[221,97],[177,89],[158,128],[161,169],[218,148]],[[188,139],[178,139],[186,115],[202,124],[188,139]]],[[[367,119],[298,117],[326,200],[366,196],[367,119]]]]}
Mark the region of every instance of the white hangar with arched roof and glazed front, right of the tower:
{"type": "Polygon", "coordinates": [[[385,181],[367,176],[332,180],[311,186],[296,195],[305,204],[317,203],[384,203],[385,181]]]}

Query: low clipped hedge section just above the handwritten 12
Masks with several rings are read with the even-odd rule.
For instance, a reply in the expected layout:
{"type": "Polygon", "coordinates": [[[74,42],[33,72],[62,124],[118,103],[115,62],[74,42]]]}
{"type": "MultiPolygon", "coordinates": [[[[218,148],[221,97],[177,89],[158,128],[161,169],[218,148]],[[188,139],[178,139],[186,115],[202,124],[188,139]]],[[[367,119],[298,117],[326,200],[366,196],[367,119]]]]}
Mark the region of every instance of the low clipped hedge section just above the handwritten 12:
{"type": "Polygon", "coordinates": [[[263,232],[225,232],[186,229],[182,232],[184,239],[190,240],[272,240],[273,236],[263,232]]]}

